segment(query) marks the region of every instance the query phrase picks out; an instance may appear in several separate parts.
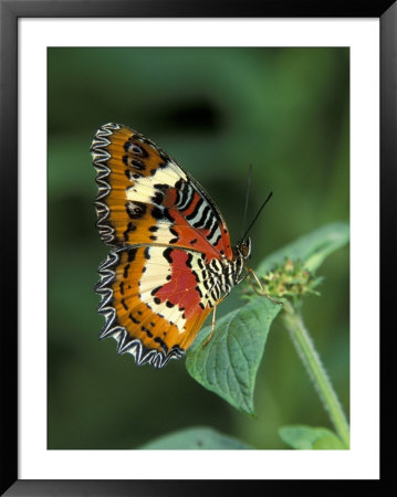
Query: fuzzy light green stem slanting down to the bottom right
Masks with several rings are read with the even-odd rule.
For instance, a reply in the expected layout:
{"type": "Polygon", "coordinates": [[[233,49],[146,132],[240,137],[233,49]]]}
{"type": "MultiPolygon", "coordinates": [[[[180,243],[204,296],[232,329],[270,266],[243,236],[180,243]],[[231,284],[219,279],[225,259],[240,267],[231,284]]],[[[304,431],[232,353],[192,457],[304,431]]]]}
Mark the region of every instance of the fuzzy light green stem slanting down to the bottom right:
{"type": "Polygon", "coordinates": [[[292,341],[307,369],[309,376],[314,382],[323,405],[330,414],[336,433],[339,435],[346,448],[348,448],[349,429],[346,416],[321,362],[320,356],[314,348],[309,331],[304,326],[301,313],[286,302],[283,307],[282,319],[290,331],[292,341]]]}

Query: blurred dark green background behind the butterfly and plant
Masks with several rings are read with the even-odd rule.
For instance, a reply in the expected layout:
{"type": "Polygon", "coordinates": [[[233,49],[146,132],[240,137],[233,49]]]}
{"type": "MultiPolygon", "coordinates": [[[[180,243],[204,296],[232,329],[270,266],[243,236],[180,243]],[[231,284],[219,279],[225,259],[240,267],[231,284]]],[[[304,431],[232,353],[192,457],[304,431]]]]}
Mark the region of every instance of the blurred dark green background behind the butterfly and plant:
{"type": "MultiPolygon", "coordinates": [[[[274,322],[255,385],[257,419],[196,383],[185,361],[156,370],[98,341],[90,145],[108,121],[134,127],[205,186],[241,235],[249,165],[252,267],[349,215],[349,52],[320,49],[49,49],[48,447],[135,448],[208,425],[257,448],[286,448],[285,424],[330,426],[288,332],[274,322]]],[[[348,248],[328,257],[304,303],[315,346],[348,414],[348,248]]],[[[239,303],[234,289],[218,316],[239,303]]]]}

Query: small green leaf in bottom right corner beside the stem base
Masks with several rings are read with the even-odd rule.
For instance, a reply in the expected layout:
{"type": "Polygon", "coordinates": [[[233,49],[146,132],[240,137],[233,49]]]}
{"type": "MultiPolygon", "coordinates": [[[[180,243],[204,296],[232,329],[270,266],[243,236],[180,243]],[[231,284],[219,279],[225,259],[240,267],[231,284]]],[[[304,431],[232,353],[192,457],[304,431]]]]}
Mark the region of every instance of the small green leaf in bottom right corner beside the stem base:
{"type": "Polygon", "coordinates": [[[281,438],[292,448],[299,450],[344,450],[343,442],[332,431],[324,427],[304,425],[283,426],[279,430],[281,438]]]}

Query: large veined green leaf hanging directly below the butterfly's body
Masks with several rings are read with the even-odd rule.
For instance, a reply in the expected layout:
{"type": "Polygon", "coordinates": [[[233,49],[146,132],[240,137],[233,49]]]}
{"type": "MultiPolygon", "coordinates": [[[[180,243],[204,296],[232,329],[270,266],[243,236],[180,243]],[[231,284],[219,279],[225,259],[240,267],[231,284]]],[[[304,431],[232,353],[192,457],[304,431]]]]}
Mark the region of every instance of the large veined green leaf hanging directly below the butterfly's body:
{"type": "Polygon", "coordinates": [[[245,306],[203,328],[189,349],[188,372],[206,389],[241,412],[253,415],[253,390],[271,322],[282,306],[267,297],[253,297],[245,306]]]}

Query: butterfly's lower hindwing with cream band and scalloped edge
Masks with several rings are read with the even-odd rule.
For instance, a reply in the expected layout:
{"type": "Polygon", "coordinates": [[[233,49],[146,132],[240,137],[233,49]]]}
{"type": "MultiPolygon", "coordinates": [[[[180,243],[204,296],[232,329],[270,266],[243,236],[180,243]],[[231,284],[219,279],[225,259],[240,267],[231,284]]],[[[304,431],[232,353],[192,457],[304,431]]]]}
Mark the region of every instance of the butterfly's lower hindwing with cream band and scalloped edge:
{"type": "Polygon", "coordinates": [[[100,267],[101,338],[113,336],[119,353],[138,364],[180,358],[212,308],[213,287],[202,254],[164,246],[111,252],[100,267]]]}

